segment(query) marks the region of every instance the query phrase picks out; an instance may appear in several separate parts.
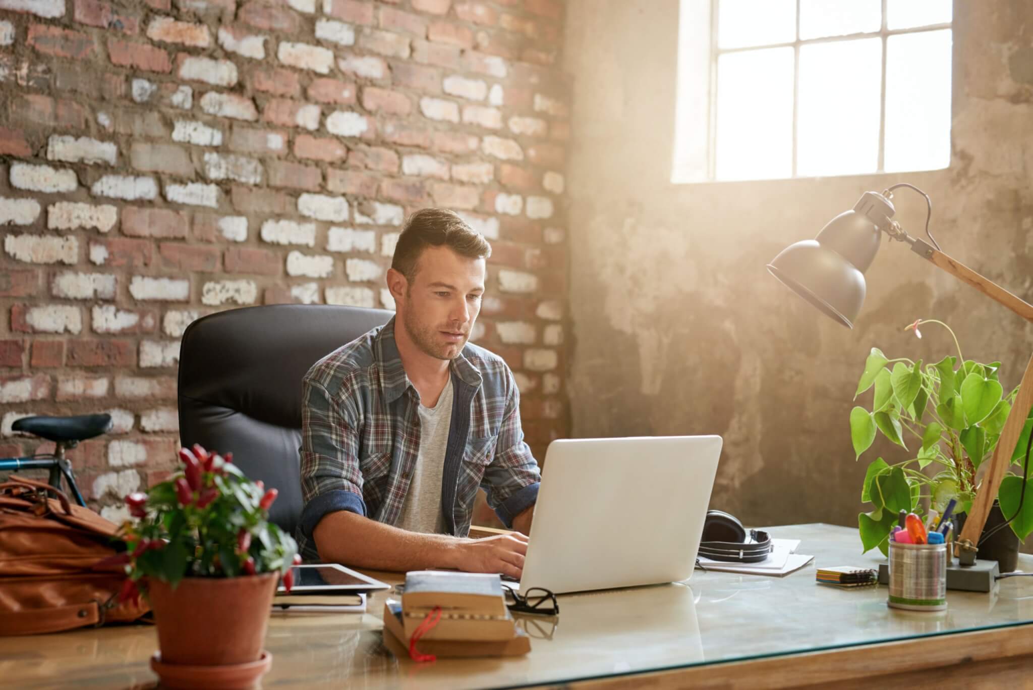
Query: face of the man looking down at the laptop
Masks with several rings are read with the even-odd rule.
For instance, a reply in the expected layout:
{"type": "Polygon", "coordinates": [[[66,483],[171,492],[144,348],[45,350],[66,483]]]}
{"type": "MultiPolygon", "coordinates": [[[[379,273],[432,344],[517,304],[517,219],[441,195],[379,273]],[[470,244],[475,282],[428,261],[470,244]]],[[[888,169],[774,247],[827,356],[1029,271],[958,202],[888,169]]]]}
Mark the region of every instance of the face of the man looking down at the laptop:
{"type": "Polygon", "coordinates": [[[424,249],[404,297],[395,299],[416,347],[431,357],[451,360],[470,339],[483,293],[484,260],[442,245],[424,249]]]}

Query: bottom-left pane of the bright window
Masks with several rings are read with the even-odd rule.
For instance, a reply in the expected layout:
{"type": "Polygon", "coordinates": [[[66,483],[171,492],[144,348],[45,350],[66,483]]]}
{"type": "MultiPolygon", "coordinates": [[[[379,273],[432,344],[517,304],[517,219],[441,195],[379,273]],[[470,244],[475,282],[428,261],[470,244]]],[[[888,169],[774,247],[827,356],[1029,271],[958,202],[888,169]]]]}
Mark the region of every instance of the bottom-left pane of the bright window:
{"type": "Polygon", "coordinates": [[[717,85],[717,178],[789,177],[792,49],[721,55],[717,85]]]}

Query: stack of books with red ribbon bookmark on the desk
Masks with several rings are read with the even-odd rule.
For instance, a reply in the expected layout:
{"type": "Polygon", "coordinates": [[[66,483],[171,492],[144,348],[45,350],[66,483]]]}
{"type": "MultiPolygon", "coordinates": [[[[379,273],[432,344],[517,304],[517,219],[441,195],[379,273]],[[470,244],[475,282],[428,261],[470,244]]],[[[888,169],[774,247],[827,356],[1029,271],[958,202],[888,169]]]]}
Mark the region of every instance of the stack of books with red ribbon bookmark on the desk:
{"type": "Polygon", "coordinates": [[[416,648],[440,657],[527,654],[531,640],[519,629],[498,575],[435,570],[409,572],[402,600],[384,604],[384,638],[408,649],[413,633],[440,607],[438,622],[420,634],[416,648]]]}

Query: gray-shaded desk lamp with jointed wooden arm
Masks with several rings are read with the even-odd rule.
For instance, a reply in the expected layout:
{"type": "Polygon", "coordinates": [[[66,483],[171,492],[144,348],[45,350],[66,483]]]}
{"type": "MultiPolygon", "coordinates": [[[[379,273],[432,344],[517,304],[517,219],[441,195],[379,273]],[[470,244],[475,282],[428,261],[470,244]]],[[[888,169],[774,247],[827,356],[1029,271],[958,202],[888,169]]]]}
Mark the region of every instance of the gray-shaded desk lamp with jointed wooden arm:
{"type": "MultiPolygon", "coordinates": [[[[871,266],[879,248],[882,234],[890,241],[906,242],[911,250],[934,266],[959,280],[967,282],[991,299],[1000,302],[1027,321],[1033,321],[1033,305],[1015,297],[968,266],[951,259],[940,250],[939,244],[929,233],[929,215],[926,217],[926,235],[929,242],[908,235],[893,220],[893,190],[909,187],[926,198],[929,214],[932,203],[921,189],[906,182],[895,184],[881,194],[866,191],[853,209],[840,213],[821,229],[813,240],[803,240],[783,249],[768,270],[797,295],[816,306],[822,313],[847,328],[853,322],[865,301],[865,271],[871,266]]],[[[1026,366],[1014,404],[1001,430],[1001,437],[982,483],[972,502],[972,510],[965,520],[965,528],[957,541],[962,566],[975,565],[979,535],[997,496],[1004,473],[1011,463],[1011,452],[1033,406],[1033,358],[1026,366]]],[[[1025,488],[1024,488],[1025,490],[1025,488]]]]}

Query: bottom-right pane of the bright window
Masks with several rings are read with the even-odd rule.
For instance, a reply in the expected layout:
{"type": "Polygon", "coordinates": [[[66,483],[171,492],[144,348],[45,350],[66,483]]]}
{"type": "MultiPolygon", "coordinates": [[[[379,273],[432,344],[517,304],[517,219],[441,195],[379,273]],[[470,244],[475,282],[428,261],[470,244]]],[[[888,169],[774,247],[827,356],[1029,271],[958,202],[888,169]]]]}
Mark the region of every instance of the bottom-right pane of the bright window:
{"type": "Polygon", "coordinates": [[[950,163],[950,29],[889,36],[885,170],[950,163]]]}

